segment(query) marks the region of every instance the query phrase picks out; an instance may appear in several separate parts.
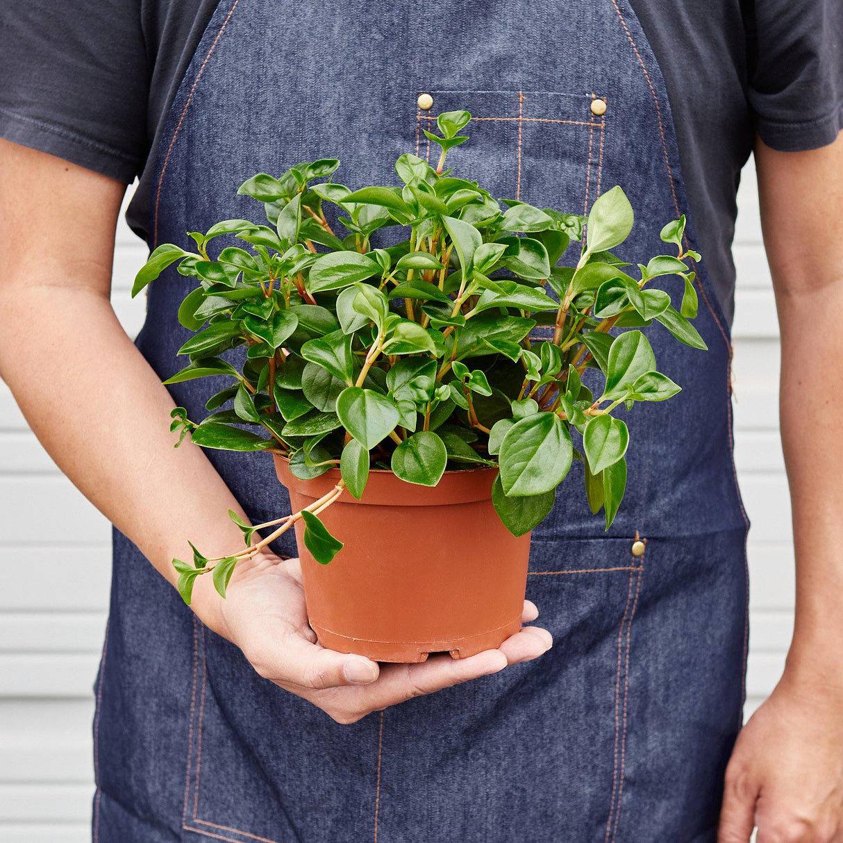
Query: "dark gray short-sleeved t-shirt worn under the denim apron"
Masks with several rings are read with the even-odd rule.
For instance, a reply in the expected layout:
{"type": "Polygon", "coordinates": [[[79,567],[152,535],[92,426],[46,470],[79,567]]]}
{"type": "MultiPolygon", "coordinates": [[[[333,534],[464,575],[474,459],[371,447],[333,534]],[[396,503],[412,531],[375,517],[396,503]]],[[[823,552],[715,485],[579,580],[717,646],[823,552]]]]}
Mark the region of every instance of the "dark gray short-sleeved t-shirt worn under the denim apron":
{"type": "MultiPolygon", "coordinates": [[[[665,78],[701,250],[733,313],[735,192],[755,133],[843,128],[843,0],[631,0],[665,78]]],[[[217,0],[3,0],[0,137],[126,182],[145,232],[153,153],[217,0]]]]}

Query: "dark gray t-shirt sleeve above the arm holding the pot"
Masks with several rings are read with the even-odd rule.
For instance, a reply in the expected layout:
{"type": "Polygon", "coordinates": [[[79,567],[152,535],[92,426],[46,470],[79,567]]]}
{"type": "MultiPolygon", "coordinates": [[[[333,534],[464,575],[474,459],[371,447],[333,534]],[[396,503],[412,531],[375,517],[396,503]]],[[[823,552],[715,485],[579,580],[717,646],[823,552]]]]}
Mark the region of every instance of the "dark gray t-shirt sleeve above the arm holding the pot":
{"type": "Polygon", "coordinates": [[[0,137],[131,182],[148,147],[139,6],[3,0],[0,137]]]}

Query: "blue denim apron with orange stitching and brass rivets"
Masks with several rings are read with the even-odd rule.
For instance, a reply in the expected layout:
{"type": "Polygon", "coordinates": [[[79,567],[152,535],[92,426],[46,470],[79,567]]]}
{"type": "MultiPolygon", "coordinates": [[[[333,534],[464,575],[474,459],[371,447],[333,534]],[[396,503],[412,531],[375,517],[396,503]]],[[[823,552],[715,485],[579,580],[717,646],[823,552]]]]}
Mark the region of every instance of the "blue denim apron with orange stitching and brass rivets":
{"type": "MultiPolygon", "coordinates": [[[[494,196],[583,213],[620,184],[633,259],[666,251],[661,225],[689,213],[663,78],[628,0],[222,0],[158,149],[150,248],[259,221],[234,194],[262,170],[337,157],[341,183],[391,184],[400,153],[433,160],[422,130],[455,109],[474,120],[448,164],[494,196]]],[[[687,236],[697,248],[690,216],[687,236]]],[[[94,840],[713,840],[744,699],[748,523],[728,325],[705,263],[696,282],[709,351],[646,329],[683,391],[626,415],[615,524],[604,533],[589,512],[575,463],[534,531],[528,597],[555,639],[534,662],[341,726],[260,679],[115,534],[94,840]]],[[[680,283],[667,282],[674,301],[680,283]]],[[[162,379],[184,362],[176,310],[190,288],[171,268],[149,290],[137,345],[162,379]]],[[[171,391],[199,418],[216,388],[171,391]]],[[[257,522],[288,507],[269,457],[208,456],[257,522]]],[[[292,534],[277,550],[295,554],[292,534]]]]}

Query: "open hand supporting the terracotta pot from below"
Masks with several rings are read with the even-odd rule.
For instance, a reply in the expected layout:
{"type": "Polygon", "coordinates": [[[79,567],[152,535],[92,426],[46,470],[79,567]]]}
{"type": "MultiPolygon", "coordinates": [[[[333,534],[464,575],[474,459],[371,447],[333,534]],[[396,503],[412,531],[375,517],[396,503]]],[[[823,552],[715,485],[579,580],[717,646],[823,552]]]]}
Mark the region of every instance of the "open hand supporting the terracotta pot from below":
{"type": "MultiPolygon", "coordinates": [[[[210,584],[210,583],[209,583],[210,584]]],[[[318,706],[338,723],[353,723],[414,696],[495,674],[546,652],[546,630],[526,626],[497,650],[421,664],[383,664],[325,649],[316,642],[304,605],[298,559],[265,555],[238,566],[227,599],[197,587],[193,607],[210,628],[234,642],[258,674],[318,706]],[[207,610],[206,610],[207,607],[207,610]]],[[[524,621],[538,610],[524,602],[524,621]]]]}

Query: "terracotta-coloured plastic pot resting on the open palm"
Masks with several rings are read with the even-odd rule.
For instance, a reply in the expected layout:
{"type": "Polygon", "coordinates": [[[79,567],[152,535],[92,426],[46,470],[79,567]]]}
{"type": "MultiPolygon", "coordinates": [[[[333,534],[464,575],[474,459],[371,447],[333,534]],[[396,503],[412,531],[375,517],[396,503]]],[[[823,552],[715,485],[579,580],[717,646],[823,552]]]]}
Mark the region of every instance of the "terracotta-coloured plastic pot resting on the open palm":
{"type": "MultiPolygon", "coordinates": [[[[293,512],[340,480],[294,477],[276,460],[293,512]]],[[[414,486],[372,471],[362,500],[344,491],[320,514],[345,546],[319,565],[296,524],[310,626],[324,647],[380,662],[423,662],[497,647],[521,626],[529,534],[516,538],[491,503],[497,469],[449,471],[414,486]]]]}

